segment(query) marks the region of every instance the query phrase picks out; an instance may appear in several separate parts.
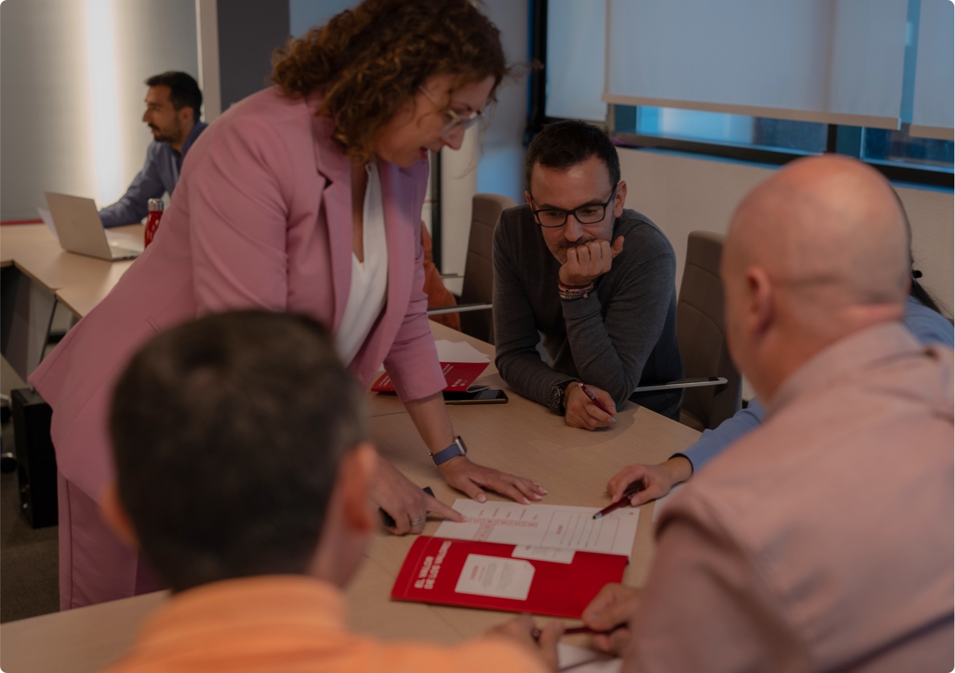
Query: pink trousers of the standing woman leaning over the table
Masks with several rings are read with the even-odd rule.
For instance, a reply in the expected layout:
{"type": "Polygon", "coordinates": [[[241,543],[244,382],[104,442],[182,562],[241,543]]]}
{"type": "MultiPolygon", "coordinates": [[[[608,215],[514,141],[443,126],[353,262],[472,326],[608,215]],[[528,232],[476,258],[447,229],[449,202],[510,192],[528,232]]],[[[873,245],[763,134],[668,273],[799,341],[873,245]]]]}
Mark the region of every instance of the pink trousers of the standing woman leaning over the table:
{"type": "Polygon", "coordinates": [[[96,500],[56,473],[60,610],[163,588],[145,559],[113,533],[96,500]]]}

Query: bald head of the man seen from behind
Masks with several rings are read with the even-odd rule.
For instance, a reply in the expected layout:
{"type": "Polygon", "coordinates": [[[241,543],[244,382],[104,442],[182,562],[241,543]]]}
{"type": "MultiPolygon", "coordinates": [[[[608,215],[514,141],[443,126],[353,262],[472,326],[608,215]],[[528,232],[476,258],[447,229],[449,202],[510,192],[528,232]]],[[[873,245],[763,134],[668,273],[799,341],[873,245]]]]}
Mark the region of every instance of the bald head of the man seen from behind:
{"type": "Polygon", "coordinates": [[[750,354],[741,351],[763,340],[780,351],[763,365],[795,368],[838,339],[902,317],[910,278],[902,208],[887,180],[858,160],[799,159],[736,209],[723,278],[737,365],[745,370],[750,354]],[[750,315],[746,342],[739,328],[760,305],[761,283],[772,301],[764,324],[750,315]]]}

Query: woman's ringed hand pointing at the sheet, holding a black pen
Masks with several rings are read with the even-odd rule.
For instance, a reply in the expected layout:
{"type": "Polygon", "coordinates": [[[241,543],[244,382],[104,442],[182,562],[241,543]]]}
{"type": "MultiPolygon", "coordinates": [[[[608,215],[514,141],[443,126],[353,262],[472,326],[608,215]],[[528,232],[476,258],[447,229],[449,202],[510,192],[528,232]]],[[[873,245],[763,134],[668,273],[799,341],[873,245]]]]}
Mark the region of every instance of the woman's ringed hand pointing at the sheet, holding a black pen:
{"type": "Polygon", "coordinates": [[[392,516],[394,525],[388,530],[399,536],[420,533],[429,512],[452,521],[464,520],[451,507],[415,486],[380,455],[371,480],[371,500],[392,516]]]}

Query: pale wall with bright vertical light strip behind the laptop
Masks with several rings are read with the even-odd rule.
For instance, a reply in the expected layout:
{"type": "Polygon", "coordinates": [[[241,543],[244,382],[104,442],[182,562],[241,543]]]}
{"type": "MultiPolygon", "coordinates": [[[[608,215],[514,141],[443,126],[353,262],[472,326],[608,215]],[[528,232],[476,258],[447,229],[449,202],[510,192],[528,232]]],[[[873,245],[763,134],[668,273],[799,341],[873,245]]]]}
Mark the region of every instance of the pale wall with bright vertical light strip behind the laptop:
{"type": "Polygon", "coordinates": [[[198,75],[195,0],[0,5],[0,219],[36,219],[44,190],[121,196],[152,140],[143,80],[166,70],[198,75]]]}

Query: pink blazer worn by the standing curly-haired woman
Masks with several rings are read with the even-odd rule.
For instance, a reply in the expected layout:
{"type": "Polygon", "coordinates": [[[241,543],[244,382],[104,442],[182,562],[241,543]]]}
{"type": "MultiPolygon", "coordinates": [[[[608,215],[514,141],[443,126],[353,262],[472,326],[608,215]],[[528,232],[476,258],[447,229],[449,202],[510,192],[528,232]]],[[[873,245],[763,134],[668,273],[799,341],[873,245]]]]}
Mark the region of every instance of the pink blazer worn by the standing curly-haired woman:
{"type": "MultiPolygon", "coordinates": [[[[351,279],[350,159],[331,140],[329,119],[314,115],[320,104],[271,88],[211,124],[184,162],[155,241],[30,377],[53,407],[58,469],[91,497],[112,474],[112,389],[153,334],[248,307],[307,313],[337,329],[351,279]]],[[[378,170],[388,297],[351,369],[368,385],[384,362],[401,398],[419,399],[444,387],[422,291],[428,166],[379,161],[378,170]]]]}

